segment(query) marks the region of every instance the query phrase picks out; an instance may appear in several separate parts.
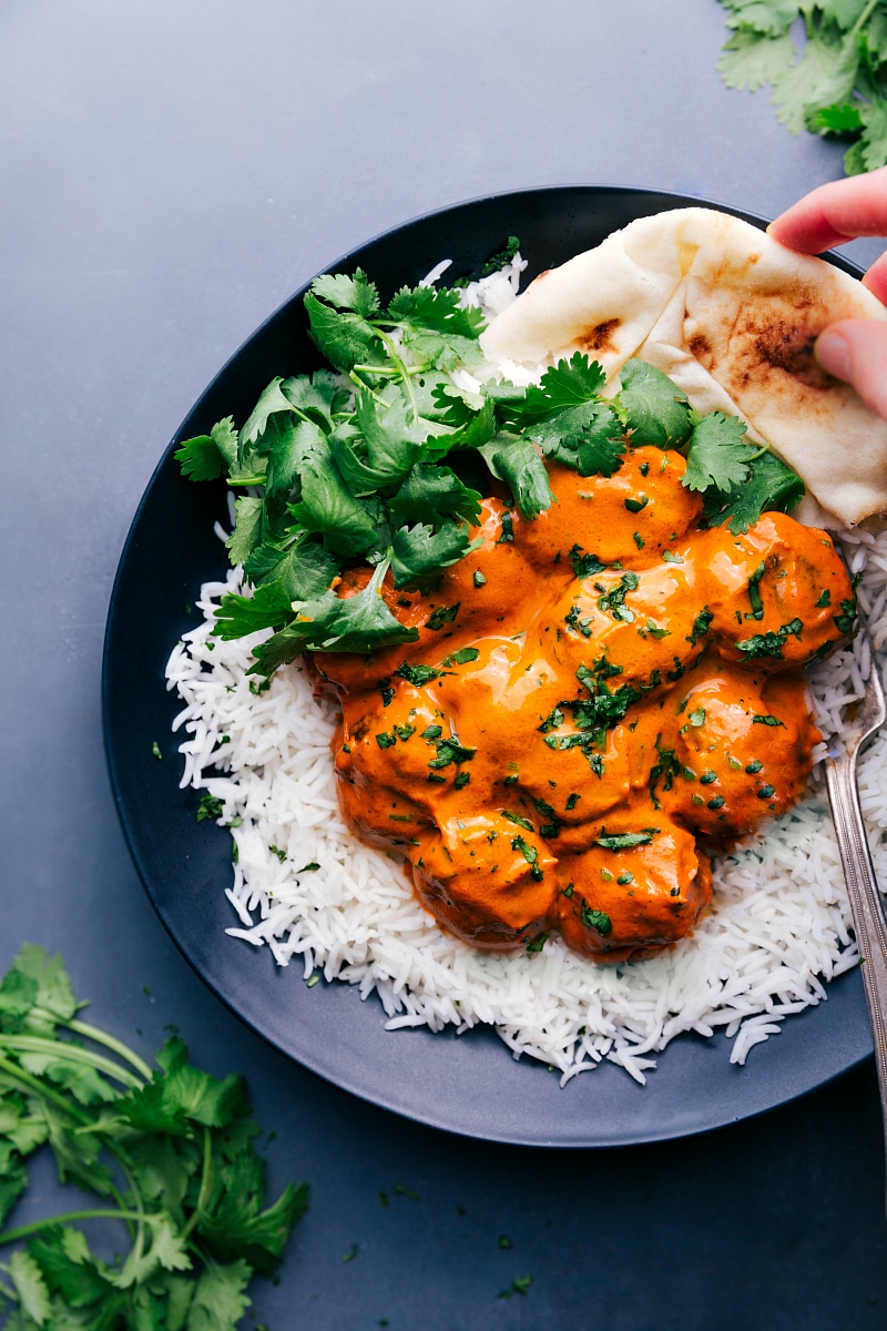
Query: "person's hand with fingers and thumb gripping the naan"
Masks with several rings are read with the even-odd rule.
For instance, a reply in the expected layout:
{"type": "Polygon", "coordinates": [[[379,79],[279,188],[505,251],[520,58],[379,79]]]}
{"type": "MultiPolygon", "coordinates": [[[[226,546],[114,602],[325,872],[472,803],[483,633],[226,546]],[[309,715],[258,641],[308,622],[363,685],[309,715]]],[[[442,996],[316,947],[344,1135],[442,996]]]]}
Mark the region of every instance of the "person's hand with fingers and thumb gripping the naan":
{"type": "MultiPolygon", "coordinates": [[[[767,232],[803,254],[819,254],[860,236],[887,237],[887,166],[821,185],[777,217],[767,232]]],[[[887,305],[887,254],[872,264],[863,286],[887,305]]],[[[827,374],[852,383],[863,402],[887,419],[887,322],[840,319],[819,334],[814,353],[827,374]]]]}

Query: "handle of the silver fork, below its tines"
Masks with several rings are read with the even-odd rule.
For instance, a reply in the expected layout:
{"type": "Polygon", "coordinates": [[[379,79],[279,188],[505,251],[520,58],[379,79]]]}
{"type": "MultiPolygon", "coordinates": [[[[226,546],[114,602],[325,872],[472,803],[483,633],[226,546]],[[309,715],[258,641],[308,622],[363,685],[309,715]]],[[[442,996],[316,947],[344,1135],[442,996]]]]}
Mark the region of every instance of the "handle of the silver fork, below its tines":
{"type": "Polygon", "coordinates": [[[826,759],[826,784],[847,881],[856,946],[863,958],[859,969],[875,1037],[875,1065],[887,1161],[887,924],[859,804],[855,753],[838,760],[826,759]]]}

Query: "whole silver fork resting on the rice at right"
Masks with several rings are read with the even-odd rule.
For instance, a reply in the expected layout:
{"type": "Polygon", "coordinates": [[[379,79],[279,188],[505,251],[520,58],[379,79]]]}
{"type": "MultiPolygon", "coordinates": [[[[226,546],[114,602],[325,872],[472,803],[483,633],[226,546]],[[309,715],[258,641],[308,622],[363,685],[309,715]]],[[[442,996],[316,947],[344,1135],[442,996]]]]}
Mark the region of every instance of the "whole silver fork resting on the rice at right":
{"type": "MultiPolygon", "coordinates": [[[[859,622],[858,638],[868,643],[866,626],[859,622]]],[[[870,648],[871,644],[868,643],[870,648]]],[[[884,724],[887,708],[880,687],[878,662],[870,650],[866,693],[852,719],[852,733],[840,752],[828,752],[826,784],[838,837],[840,864],[847,882],[847,896],[854,918],[859,969],[866,989],[866,1002],[875,1037],[875,1065],[880,1087],[884,1126],[884,1159],[887,1162],[887,924],[871,862],[866,825],[859,804],[856,757],[866,743],[884,724]]],[[[887,1202],[886,1202],[887,1210],[887,1202]]]]}

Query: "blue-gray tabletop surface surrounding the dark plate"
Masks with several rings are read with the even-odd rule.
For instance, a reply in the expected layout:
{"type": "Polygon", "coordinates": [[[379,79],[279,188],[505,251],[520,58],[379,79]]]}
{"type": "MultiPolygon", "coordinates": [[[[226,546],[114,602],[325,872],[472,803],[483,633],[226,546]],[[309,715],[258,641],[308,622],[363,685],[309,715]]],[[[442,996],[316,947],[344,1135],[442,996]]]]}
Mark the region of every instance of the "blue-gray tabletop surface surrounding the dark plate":
{"type": "MultiPolygon", "coordinates": [[[[0,3],[0,968],[23,940],[59,949],[93,1020],[146,1057],[176,1024],[198,1066],[246,1073],[273,1185],[313,1185],[279,1283],[253,1286],[274,1331],[884,1324],[871,1063],[654,1147],[517,1150],[403,1122],[206,992],[148,905],[105,772],[102,632],[136,504],[297,286],[496,190],[644,185],[773,216],[840,174],[838,146],[723,88],[723,36],[715,0],[0,3]],[[382,1209],[395,1182],[420,1201],[382,1209]],[[527,1274],[525,1298],[497,1299],[527,1274]]],[[[63,1206],[37,1167],[19,1215],[63,1206]]]]}

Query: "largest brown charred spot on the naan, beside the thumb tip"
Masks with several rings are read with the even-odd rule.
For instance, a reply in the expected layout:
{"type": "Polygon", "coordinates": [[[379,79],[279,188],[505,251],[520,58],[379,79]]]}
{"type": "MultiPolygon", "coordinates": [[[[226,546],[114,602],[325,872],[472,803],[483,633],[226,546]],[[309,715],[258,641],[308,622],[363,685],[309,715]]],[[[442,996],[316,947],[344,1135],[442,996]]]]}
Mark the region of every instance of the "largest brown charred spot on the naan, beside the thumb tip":
{"type": "MultiPolygon", "coordinates": [[[[822,302],[802,290],[791,298],[774,291],[738,305],[729,329],[717,338],[703,333],[689,339],[693,355],[735,397],[749,387],[762,389],[777,379],[785,393],[786,377],[814,393],[846,390],[846,385],[822,369],[814,343],[832,322],[822,302]]],[[[717,337],[717,334],[715,334],[717,337]]],[[[807,393],[801,393],[809,401],[807,393]]]]}

